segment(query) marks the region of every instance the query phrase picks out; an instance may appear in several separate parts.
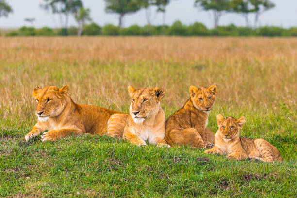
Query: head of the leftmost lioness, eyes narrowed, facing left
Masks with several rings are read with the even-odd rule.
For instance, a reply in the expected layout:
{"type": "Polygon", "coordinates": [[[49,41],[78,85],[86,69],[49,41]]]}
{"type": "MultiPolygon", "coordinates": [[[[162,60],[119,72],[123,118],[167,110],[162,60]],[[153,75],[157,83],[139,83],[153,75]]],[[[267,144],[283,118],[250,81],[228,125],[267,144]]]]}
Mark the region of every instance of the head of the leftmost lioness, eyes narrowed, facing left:
{"type": "Polygon", "coordinates": [[[65,108],[65,98],[69,87],[66,85],[59,89],[55,86],[45,88],[36,87],[33,90],[33,98],[36,102],[35,115],[39,121],[47,121],[49,117],[56,117],[65,108]]]}

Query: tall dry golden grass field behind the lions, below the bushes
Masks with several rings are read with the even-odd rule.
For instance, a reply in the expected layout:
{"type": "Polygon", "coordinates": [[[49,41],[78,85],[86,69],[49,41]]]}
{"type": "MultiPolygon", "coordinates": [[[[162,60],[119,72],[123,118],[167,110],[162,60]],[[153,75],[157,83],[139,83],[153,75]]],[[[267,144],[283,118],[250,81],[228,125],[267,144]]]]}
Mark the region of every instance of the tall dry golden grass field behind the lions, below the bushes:
{"type": "Polygon", "coordinates": [[[2,123],[16,115],[21,123],[34,119],[37,85],[68,84],[74,101],[120,111],[128,109],[129,85],[160,86],[168,116],[189,97],[190,85],[214,83],[216,107],[227,114],[261,114],[280,103],[296,112],[294,38],[2,37],[0,49],[2,123]]]}

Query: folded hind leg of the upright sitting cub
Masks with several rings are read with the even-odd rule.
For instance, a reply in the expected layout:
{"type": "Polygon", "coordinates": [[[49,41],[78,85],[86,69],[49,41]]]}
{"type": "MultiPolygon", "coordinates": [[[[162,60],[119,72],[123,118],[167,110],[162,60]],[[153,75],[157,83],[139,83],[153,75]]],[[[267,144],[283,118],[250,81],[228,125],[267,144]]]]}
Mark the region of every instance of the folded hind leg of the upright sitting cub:
{"type": "Polygon", "coordinates": [[[189,145],[194,148],[205,148],[201,135],[194,128],[171,130],[169,132],[169,137],[172,140],[172,143],[177,146],[189,145]]]}

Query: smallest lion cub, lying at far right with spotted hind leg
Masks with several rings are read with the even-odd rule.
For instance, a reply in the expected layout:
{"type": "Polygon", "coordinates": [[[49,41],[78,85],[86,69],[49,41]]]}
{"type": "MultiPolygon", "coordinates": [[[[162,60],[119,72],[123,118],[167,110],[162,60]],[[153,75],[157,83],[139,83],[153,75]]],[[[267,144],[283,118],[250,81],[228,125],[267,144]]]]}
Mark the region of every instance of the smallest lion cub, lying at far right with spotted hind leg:
{"type": "Polygon", "coordinates": [[[205,153],[227,155],[229,159],[261,160],[263,162],[280,161],[282,158],[277,148],[264,139],[249,139],[239,137],[240,130],[246,122],[244,117],[224,118],[217,115],[218,130],[215,133],[214,147],[205,150],[205,153]]]}

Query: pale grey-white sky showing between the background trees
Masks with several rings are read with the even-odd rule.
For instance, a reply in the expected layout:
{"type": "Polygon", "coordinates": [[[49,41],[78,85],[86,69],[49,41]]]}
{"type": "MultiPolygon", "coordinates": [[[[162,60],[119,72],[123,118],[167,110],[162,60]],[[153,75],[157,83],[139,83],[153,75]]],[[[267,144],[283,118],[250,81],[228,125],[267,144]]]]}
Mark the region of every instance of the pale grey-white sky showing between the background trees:
{"type": "MultiPolygon", "coordinates": [[[[175,20],[181,20],[184,24],[192,24],[194,22],[202,22],[207,27],[213,27],[212,15],[210,12],[202,11],[194,7],[195,0],[171,0],[171,3],[166,7],[166,24],[171,25],[175,20]]],[[[260,24],[281,26],[284,28],[297,27],[297,0],[271,0],[276,4],[275,8],[265,12],[260,16],[260,24]]],[[[16,28],[23,25],[29,26],[25,22],[25,18],[35,18],[34,26],[39,27],[60,27],[58,16],[47,13],[40,8],[43,0],[6,0],[6,2],[13,8],[14,12],[7,18],[0,18],[1,28],[16,28]]],[[[91,9],[91,18],[94,22],[103,26],[111,23],[118,24],[118,16],[115,14],[107,14],[104,11],[104,0],[82,0],[84,7],[91,9]]],[[[154,15],[154,10],[153,15],[154,15]]],[[[254,15],[249,16],[253,22],[254,15]]],[[[234,23],[238,26],[245,26],[245,20],[238,14],[226,14],[220,19],[220,25],[228,25],[234,23]]],[[[126,15],[124,17],[124,26],[137,24],[140,26],[146,25],[145,11],[140,10],[136,13],[126,15]]],[[[162,24],[162,14],[156,15],[153,25],[162,24]]],[[[77,26],[73,17],[69,18],[70,26],[77,26]]]]}

